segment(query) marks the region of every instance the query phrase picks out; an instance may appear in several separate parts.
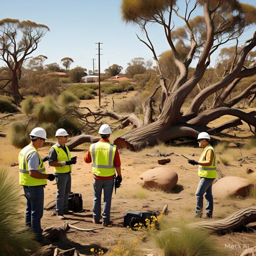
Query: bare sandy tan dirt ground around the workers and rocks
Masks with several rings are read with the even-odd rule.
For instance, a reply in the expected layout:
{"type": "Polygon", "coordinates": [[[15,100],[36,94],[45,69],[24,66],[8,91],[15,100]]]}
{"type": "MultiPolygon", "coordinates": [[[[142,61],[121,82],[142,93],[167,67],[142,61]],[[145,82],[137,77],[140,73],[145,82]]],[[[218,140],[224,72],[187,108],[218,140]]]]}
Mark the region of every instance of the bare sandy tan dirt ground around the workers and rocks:
{"type": "MultiPolygon", "coordinates": [[[[129,92],[126,97],[132,97],[136,92],[129,92]]],[[[124,95],[114,95],[115,102],[118,100],[125,100],[124,95]]],[[[102,100],[102,102],[111,102],[112,96],[109,95],[102,100]]],[[[109,103],[109,110],[111,110],[111,103],[109,103]]],[[[92,110],[97,109],[97,98],[94,100],[84,100],[81,102],[81,107],[90,107],[92,110]]],[[[255,109],[246,109],[246,112],[255,109]]],[[[1,114],[3,116],[4,114],[1,114]]],[[[0,116],[0,117],[1,117],[0,116]]],[[[211,127],[220,124],[223,121],[233,119],[234,117],[225,116],[219,118],[210,124],[211,127]]],[[[13,175],[15,182],[18,184],[18,167],[11,167],[11,164],[18,163],[18,153],[20,149],[16,149],[8,142],[8,130],[11,123],[24,120],[22,114],[15,115],[13,117],[4,118],[0,120],[0,133],[6,134],[7,137],[0,137],[0,164],[8,165],[10,174],[13,175]]],[[[113,121],[112,121],[113,122],[113,121]]],[[[231,143],[228,147],[224,148],[221,145],[216,146],[216,152],[218,154],[218,167],[226,176],[239,176],[245,177],[250,180],[256,181],[256,159],[247,160],[247,163],[240,163],[237,159],[244,156],[255,156],[255,147],[242,147],[238,148],[232,142],[241,142],[244,144],[249,143],[252,133],[249,132],[247,125],[242,125],[238,131],[230,131],[231,135],[237,135],[240,138],[227,139],[221,138],[221,140],[231,143]],[[228,165],[224,165],[220,157],[228,159],[228,165]],[[246,174],[246,169],[252,168],[255,173],[246,174]]],[[[114,138],[119,134],[124,133],[130,127],[125,128],[122,131],[114,132],[110,141],[113,142],[114,138]]],[[[71,216],[68,221],[74,223],[79,221],[75,225],[81,228],[94,228],[100,227],[99,224],[92,223],[92,204],[93,204],[93,187],[92,187],[92,170],[90,164],[86,164],[83,160],[89,144],[80,145],[76,149],[71,151],[71,156],[77,156],[77,164],[73,166],[72,171],[72,188],[74,193],[81,193],[83,199],[82,213],[76,213],[71,216]]],[[[48,154],[50,146],[44,146],[39,149],[40,155],[46,156],[48,154]]],[[[161,143],[160,145],[141,150],[139,152],[130,152],[128,150],[120,150],[121,157],[121,169],[123,182],[122,186],[117,190],[116,195],[113,193],[112,206],[111,206],[111,220],[114,221],[113,227],[107,227],[103,230],[97,230],[95,232],[81,232],[70,230],[68,232],[68,238],[70,243],[58,243],[60,248],[69,249],[76,247],[81,253],[90,255],[90,248],[101,248],[105,252],[113,247],[119,240],[132,241],[138,238],[139,232],[129,231],[127,228],[122,227],[123,216],[126,211],[155,211],[160,212],[163,206],[168,204],[170,210],[168,218],[173,221],[183,219],[186,222],[195,221],[194,209],[195,209],[195,191],[199,182],[197,175],[197,168],[189,165],[186,160],[181,156],[185,154],[193,159],[199,159],[201,149],[198,147],[185,147],[185,146],[167,146],[161,143]],[[160,157],[159,154],[167,154],[174,152],[168,157],[160,157]],[[194,153],[195,156],[189,156],[194,153]],[[177,156],[177,155],[178,156],[177,156]],[[178,186],[175,191],[166,193],[158,190],[142,189],[140,185],[139,176],[146,170],[159,167],[157,160],[163,158],[170,158],[171,162],[166,164],[165,167],[171,168],[178,174],[178,186]]],[[[46,163],[46,172],[53,173],[53,168],[49,167],[46,163]]],[[[53,201],[56,196],[56,182],[47,182],[45,188],[45,206],[53,201]]],[[[22,195],[22,188],[20,188],[20,194],[22,195]]],[[[213,195],[214,196],[214,195],[213,195]]],[[[231,213],[248,206],[256,205],[256,193],[248,198],[230,198],[226,200],[214,199],[214,215],[213,219],[221,219],[227,217],[231,213]]],[[[16,213],[24,218],[25,212],[25,197],[20,197],[21,205],[16,207],[16,213]]],[[[58,220],[56,216],[50,216],[51,211],[44,211],[42,218],[42,228],[50,227],[54,225],[61,225],[62,221],[58,220]]],[[[252,224],[252,225],[256,225],[252,224]]],[[[249,244],[249,247],[255,246],[256,234],[252,233],[231,233],[224,236],[215,236],[219,241],[220,248],[225,248],[225,244],[249,244]]],[[[154,251],[153,245],[150,243],[143,243],[143,252],[145,254],[154,251]]],[[[244,249],[226,249],[229,255],[240,255],[244,249]]]]}

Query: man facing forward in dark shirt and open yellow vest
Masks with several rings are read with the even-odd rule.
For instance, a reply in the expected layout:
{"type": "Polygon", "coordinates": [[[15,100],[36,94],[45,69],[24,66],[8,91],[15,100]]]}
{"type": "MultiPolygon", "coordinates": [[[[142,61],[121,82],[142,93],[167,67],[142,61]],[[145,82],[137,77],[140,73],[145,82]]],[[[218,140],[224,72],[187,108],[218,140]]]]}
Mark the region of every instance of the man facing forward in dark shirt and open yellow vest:
{"type": "Polygon", "coordinates": [[[49,150],[50,166],[54,167],[55,178],[57,182],[56,193],[56,213],[57,217],[64,220],[63,214],[73,214],[68,210],[68,196],[71,191],[71,172],[72,164],[77,163],[77,157],[71,157],[67,143],[68,133],[65,129],[58,129],[55,136],[58,142],[49,150]]]}

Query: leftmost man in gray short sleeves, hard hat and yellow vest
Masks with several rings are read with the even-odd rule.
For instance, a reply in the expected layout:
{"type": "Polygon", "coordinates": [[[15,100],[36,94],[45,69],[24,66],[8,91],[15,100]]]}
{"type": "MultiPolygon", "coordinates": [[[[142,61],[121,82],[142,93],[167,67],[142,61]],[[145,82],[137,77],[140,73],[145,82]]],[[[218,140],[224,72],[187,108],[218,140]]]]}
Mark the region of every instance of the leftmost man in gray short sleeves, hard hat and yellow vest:
{"type": "Polygon", "coordinates": [[[46,174],[44,161],[47,157],[41,159],[37,151],[47,139],[46,131],[37,127],[29,135],[31,143],[19,153],[19,184],[23,186],[26,198],[25,225],[32,228],[39,242],[47,244],[41,228],[44,188],[47,179],[53,181],[54,175],[46,174]]]}

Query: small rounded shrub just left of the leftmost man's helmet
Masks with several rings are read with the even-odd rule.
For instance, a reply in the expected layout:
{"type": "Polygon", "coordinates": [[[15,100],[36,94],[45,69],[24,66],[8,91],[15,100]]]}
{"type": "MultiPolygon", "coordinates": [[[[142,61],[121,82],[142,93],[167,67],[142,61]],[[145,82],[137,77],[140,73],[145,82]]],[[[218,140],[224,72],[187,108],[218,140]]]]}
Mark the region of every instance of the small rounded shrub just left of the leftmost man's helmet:
{"type": "Polygon", "coordinates": [[[10,141],[11,145],[22,148],[29,144],[27,136],[27,126],[25,122],[17,122],[11,125],[10,141]]]}

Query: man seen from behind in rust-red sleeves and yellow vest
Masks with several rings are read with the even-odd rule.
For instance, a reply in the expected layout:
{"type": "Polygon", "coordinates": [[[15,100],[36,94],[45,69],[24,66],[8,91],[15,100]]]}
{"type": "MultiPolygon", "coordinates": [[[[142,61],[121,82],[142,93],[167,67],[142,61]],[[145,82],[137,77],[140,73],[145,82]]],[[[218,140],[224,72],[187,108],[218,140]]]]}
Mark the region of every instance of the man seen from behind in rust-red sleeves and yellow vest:
{"type": "Polygon", "coordinates": [[[108,226],[112,224],[110,221],[111,198],[114,187],[114,179],[118,184],[122,182],[121,161],[117,150],[117,146],[109,141],[111,129],[109,125],[103,124],[99,129],[101,139],[90,145],[85,156],[85,162],[92,162],[93,173],[93,223],[100,223],[101,215],[101,195],[102,189],[104,193],[102,225],[108,226]],[[117,177],[115,178],[115,170],[117,177]]]}

